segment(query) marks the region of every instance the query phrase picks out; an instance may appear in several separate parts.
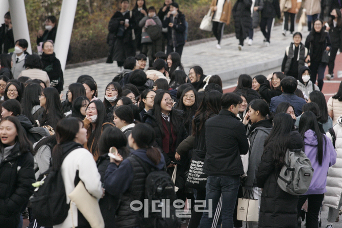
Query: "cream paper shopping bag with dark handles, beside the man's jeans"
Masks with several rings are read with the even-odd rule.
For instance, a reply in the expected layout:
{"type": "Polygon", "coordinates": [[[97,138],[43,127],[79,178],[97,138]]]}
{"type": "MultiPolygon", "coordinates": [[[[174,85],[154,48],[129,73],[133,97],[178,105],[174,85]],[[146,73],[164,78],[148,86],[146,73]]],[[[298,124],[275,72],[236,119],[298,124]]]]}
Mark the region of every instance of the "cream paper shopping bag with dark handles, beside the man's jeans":
{"type": "Polygon", "coordinates": [[[250,193],[250,190],[246,190],[243,197],[238,198],[236,219],[246,222],[259,221],[259,200],[253,198],[253,194],[250,193]],[[247,197],[246,193],[248,193],[249,196],[252,195],[252,198],[247,197]]]}

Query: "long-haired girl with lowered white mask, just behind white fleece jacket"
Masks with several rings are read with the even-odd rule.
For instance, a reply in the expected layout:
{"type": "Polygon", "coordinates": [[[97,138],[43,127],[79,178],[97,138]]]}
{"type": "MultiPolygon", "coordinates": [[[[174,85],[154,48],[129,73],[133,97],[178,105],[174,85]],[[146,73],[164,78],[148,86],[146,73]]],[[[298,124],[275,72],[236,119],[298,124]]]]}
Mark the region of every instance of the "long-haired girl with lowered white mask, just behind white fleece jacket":
{"type": "Polygon", "coordinates": [[[88,149],[96,161],[99,157],[99,141],[102,132],[106,128],[114,126],[109,122],[105,106],[100,100],[93,100],[86,109],[86,117],[83,120],[84,128],[87,129],[87,142],[84,148],[88,149]]]}

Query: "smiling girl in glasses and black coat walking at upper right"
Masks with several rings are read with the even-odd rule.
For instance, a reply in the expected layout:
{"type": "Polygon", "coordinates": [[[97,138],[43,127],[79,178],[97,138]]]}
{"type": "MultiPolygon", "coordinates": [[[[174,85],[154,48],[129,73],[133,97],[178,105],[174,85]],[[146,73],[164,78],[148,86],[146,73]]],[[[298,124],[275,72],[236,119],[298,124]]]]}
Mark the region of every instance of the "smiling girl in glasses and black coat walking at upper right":
{"type": "Polygon", "coordinates": [[[323,55],[325,50],[331,49],[331,42],[329,33],[325,32],[323,27],[323,21],[316,19],[313,22],[313,30],[309,33],[305,40],[305,47],[308,48],[309,53],[305,59],[311,70],[310,80],[312,83],[316,83],[318,75],[318,87],[322,91],[324,71],[327,66],[326,62],[323,62],[323,55]]]}

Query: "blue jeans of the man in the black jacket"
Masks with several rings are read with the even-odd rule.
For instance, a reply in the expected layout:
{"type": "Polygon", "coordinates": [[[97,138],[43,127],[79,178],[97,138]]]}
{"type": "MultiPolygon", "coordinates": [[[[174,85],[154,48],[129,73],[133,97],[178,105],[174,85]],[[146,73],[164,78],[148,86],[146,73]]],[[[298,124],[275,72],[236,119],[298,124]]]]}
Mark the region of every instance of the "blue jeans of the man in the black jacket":
{"type": "MultiPolygon", "coordinates": [[[[200,228],[211,228],[214,221],[214,217],[217,218],[219,215],[215,216],[215,210],[219,198],[222,195],[222,228],[233,228],[233,214],[235,208],[235,202],[237,197],[237,192],[240,186],[240,175],[233,176],[208,176],[206,185],[206,207],[205,212],[200,223],[200,228]],[[212,200],[211,208],[209,207],[209,199],[212,200]],[[211,218],[206,210],[212,211],[211,218]]],[[[217,220],[217,219],[216,219],[217,220]]],[[[218,224],[217,224],[218,225],[218,224]]]]}

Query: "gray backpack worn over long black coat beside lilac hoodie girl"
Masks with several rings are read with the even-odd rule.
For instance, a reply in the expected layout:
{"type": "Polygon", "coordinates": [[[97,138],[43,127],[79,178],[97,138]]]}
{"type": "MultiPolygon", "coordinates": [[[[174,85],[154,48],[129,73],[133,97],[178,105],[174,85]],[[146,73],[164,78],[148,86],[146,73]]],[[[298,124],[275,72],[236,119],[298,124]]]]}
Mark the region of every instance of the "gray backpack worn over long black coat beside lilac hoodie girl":
{"type": "Polygon", "coordinates": [[[291,195],[302,195],[309,189],[312,175],[313,168],[305,153],[302,150],[287,150],[277,183],[291,195]]]}

